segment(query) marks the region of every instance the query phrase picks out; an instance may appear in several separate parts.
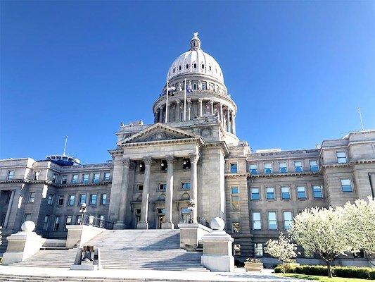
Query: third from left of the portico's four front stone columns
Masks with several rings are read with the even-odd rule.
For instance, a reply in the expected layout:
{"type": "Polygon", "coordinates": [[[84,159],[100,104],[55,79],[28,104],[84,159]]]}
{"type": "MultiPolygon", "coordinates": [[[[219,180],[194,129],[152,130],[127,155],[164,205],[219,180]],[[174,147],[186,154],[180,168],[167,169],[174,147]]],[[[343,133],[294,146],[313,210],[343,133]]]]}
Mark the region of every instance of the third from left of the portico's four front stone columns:
{"type": "Polygon", "coordinates": [[[173,207],[173,156],[165,157],[167,160],[167,187],[165,188],[167,197],[165,197],[165,222],[162,223],[162,229],[173,229],[172,207],[173,207]]]}

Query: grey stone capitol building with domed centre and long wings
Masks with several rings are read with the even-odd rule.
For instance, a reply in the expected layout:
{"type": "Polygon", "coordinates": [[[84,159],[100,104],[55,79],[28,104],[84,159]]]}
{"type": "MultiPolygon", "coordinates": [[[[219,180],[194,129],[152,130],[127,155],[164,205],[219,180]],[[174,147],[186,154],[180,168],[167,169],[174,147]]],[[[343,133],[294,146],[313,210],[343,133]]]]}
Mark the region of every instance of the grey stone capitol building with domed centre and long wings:
{"type": "Polygon", "coordinates": [[[194,33],[167,70],[153,124],[121,123],[116,143],[103,148],[112,161],[82,165],[65,154],[0,161],[0,253],[27,220],[43,238],[66,238],[86,203],[87,214],[113,229],[208,226],[221,217],[235,258],[265,258],[265,242],[306,207],[375,196],[375,130],[312,149],[253,152],[236,135],[237,105],[222,68],[201,45],[194,33]]]}

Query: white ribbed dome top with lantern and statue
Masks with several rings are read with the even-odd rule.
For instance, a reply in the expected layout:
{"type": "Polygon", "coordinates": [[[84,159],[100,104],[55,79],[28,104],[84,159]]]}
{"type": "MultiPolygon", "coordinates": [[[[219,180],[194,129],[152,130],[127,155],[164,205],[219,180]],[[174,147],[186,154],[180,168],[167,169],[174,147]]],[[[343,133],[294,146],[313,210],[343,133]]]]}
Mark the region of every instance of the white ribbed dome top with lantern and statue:
{"type": "Polygon", "coordinates": [[[194,32],[190,41],[190,50],[181,54],[174,60],[167,73],[167,80],[171,80],[179,75],[185,74],[203,74],[210,75],[212,78],[224,84],[222,68],[219,63],[209,54],[201,49],[201,40],[198,38],[198,32],[194,32]]]}

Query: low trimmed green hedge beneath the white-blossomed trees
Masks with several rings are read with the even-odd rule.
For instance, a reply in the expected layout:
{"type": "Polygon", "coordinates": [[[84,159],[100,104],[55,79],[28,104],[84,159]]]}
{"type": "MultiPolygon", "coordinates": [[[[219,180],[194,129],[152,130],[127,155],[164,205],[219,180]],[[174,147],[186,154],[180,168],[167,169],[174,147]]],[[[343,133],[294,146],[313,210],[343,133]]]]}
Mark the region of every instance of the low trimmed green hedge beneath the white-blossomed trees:
{"type": "MultiPolygon", "coordinates": [[[[375,269],[371,269],[369,267],[332,266],[331,269],[333,276],[375,280],[375,269]]],[[[275,273],[281,273],[282,271],[282,265],[279,265],[274,269],[275,273]]],[[[327,276],[327,268],[326,266],[322,265],[286,264],[285,272],[294,274],[327,276]]]]}

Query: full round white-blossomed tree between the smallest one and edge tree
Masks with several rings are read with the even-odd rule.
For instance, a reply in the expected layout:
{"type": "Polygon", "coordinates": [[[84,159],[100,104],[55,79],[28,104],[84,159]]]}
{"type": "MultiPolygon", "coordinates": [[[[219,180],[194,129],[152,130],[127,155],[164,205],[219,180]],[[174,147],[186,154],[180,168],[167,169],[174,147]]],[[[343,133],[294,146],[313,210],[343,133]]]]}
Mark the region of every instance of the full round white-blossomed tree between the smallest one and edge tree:
{"type": "Polygon", "coordinates": [[[298,245],[324,259],[329,277],[333,259],[352,250],[345,216],[331,207],[305,209],[295,216],[290,232],[298,245]]]}

